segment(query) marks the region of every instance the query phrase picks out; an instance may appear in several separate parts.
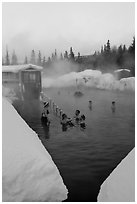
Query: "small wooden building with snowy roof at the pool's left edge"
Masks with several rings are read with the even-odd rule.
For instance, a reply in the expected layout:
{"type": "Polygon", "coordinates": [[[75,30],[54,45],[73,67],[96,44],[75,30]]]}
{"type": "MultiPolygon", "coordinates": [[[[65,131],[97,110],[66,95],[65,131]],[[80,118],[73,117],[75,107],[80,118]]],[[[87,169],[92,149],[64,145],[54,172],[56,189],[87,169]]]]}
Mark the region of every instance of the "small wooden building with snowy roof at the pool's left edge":
{"type": "Polygon", "coordinates": [[[38,99],[42,69],[33,64],[2,66],[2,84],[14,89],[15,93],[24,99],[38,99]]]}

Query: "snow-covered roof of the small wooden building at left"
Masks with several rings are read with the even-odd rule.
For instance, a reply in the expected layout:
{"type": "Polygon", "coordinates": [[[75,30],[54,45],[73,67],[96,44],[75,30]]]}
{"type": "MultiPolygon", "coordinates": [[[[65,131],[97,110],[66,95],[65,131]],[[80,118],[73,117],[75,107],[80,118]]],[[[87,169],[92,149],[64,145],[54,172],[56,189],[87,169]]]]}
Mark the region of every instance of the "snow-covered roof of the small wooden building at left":
{"type": "Polygon", "coordinates": [[[34,70],[42,70],[43,67],[37,66],[34,64],[20,64],[20,65],[9,65],[9,66],[2,66],[2,72],[14,72],[17,73],[20,70],[26,70],[32,68],[34,70]]]}

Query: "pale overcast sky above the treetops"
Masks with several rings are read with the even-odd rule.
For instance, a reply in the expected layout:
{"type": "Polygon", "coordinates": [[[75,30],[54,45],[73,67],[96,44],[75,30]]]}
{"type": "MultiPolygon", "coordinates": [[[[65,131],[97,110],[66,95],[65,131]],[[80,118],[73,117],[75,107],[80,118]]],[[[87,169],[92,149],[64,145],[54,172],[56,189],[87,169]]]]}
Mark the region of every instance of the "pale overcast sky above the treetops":
{"type": "Polygon", "coordinates": [[[91,54],[108,39],[129,46],[135,35],[134,3],[3,3],[2,12],[3,53],[8,45],[21,60],[32,49],[91,54]]]}

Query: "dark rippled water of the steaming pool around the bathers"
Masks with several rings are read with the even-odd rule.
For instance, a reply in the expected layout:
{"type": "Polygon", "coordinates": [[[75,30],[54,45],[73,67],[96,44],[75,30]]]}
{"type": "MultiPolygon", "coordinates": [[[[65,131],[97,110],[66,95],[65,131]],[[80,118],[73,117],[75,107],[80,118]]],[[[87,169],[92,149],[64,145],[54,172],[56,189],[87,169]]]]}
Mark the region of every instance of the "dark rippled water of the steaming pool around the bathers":
{"type": "Polygon", "coordinates": [[[59,118],[51,114],[44,129],[39,101],[14,103],[20,115],[39,135],[56,163],[69,190],[67,201],[96,201],[100,185],[134,147],[134,93],[83,89],[74,97],[73,88],[49,88],[44,92],[72,117],[76,109],[86,116],[87,128],[62,132],[59,118]],[[92,110],[88,101],[92,100],[92,110]],[[116,101],[116,112],[111,102],[116,101]]]}

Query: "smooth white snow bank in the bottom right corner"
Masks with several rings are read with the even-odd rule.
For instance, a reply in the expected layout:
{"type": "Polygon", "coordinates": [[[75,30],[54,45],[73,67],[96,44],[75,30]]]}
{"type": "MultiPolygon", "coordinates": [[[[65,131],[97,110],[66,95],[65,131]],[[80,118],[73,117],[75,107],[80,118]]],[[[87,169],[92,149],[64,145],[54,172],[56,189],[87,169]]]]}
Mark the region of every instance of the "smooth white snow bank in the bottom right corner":
{"type": "Polygon", "coordinates": [[[135,149],[102,184],[99,202],[135,202],[135,149]]]}

